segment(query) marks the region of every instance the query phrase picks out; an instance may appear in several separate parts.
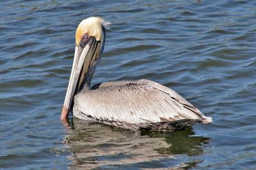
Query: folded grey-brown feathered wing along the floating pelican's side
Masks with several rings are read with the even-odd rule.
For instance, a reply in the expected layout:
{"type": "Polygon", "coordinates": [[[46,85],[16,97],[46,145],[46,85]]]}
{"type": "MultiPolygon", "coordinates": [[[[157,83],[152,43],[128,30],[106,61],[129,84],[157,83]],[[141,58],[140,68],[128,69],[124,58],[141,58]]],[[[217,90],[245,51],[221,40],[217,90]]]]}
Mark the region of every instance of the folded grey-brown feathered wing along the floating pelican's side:
{"type": "Polygon", "coordinates": [[[184,119],[211,121],[177,92],[150,80],[95,85],[92,90],[77,94],[74,103],[75,117],[100,122],[145,127],[184,119]]]}

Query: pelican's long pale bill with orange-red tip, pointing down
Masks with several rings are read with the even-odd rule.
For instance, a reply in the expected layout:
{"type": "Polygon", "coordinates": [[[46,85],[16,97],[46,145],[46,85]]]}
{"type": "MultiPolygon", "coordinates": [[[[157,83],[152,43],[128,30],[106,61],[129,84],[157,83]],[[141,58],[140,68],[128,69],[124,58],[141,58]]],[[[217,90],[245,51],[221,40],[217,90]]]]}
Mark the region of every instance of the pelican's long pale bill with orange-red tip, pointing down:
{"type": "Polygon", "coordinates": [[[61,120],[67,119],[74,99],[74,94],[81,88],[84,76],[88,73],[90,65],[92,65],[91,62],[94,62],[97,59],[97,57],[94,56],[97,53],[95,51],[99,50],[98,46],[98,42],[95,38],[89,39],[84,47],[76,45],[67,94],[61,111],[61,120]]]}

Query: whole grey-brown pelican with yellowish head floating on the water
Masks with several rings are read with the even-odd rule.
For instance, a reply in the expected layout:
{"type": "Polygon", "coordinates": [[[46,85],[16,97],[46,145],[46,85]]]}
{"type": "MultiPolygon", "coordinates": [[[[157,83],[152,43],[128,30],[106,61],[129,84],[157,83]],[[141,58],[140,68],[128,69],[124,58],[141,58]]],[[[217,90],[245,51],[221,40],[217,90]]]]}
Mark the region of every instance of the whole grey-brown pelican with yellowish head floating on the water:
{"type": "Polygon", "coordinates": [[[72,108],[74,117],[132,130],[175,130],[212,122],[177,92],[154,81],[109,81],[91,87],[104,49],[106,26],[108,22],[102,18],[90,17],[77,27],[61,120],[72,108]]]}

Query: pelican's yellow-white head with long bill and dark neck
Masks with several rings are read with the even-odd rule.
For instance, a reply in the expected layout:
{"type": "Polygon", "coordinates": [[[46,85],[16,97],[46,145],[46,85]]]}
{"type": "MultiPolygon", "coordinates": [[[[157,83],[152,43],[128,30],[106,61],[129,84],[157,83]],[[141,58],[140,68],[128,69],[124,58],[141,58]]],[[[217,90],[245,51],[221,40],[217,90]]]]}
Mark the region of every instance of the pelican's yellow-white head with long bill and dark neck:
{"type": "Polygon", "coordinates": [[[90,88],[95,71],[104,49],[105,26],[108,22],[99,17],[84,19],[76,30],[76,49],[67,94],[61,111],[61,120],[68,117],[74,95],[83,88],[90,88]]]}

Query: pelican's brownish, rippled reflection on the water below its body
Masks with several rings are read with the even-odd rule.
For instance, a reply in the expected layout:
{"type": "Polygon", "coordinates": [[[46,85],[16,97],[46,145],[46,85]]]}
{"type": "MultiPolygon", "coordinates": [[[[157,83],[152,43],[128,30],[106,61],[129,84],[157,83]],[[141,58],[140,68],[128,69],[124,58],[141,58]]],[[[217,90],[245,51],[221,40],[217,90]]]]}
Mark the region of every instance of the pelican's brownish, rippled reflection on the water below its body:
{"type": "Polygon", "coordinates": [[[174,167],[196,166],[195,162],[179,164],[175,155],[201,155],[202,145],[210,139],[193,136],[193,129],[183,131],[129,131],[104,124],[72,118],[68,122],[65,144],[74,154],[72,166],[92,167],[161,167],[168,158],[174,167]]]}

